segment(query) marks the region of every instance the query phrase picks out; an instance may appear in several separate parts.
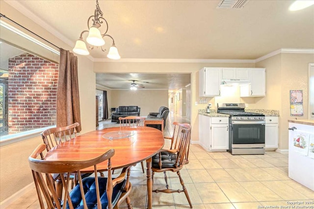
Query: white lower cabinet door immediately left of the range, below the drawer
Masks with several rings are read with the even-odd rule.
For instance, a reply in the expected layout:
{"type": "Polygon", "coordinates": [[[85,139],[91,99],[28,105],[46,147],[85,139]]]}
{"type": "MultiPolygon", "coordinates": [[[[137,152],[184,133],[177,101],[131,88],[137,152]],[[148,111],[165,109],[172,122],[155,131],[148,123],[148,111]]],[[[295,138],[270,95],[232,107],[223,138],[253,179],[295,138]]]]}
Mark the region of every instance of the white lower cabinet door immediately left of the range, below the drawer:
{"type": "Polygon", "coordinates": [[[229,149],[228,124],[212,124],[210,126],[211,149],[229,149]]]}

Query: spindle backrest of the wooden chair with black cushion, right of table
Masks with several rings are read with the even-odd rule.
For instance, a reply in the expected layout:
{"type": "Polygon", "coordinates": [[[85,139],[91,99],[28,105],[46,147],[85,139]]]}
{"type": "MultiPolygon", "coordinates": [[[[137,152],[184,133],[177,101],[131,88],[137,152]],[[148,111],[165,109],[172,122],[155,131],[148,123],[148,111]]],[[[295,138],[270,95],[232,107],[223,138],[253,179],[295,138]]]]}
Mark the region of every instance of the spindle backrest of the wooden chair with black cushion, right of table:
{"type": "Polygon", "coordinates": [[[179,124],[179,133],[175,143],[178,150],[176,166],[181,167],[188,162],[188,154],[191,140],[191,125],[188,123],[179,124]]]}

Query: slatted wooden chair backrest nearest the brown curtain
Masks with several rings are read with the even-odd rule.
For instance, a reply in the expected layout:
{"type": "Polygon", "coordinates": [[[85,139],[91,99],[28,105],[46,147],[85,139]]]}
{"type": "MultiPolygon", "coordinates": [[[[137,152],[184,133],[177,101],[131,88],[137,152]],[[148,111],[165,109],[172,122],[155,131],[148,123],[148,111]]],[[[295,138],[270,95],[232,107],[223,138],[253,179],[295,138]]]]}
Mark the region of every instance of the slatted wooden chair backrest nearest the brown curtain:
{"type": "Polygon", "coordinates": [[[63,141],[74,139],[77,137],[76,127],[79,123],[73,123],[69,126],[55,127],[43,131],[40,135],[46,144],[47,151],[63,141]]]}

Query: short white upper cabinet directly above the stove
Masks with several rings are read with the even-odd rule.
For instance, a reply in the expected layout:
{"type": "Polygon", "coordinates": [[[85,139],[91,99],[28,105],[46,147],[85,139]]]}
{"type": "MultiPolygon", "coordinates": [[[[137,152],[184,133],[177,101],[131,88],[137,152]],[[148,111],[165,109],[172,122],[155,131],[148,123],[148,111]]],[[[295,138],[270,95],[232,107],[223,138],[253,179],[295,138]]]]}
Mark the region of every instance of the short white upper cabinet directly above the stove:
{"type": "Polygon", "coordinates": [[[250,70],[248,68],[222,68],[221,78],[222,81],[250,81],[250,70]]]}

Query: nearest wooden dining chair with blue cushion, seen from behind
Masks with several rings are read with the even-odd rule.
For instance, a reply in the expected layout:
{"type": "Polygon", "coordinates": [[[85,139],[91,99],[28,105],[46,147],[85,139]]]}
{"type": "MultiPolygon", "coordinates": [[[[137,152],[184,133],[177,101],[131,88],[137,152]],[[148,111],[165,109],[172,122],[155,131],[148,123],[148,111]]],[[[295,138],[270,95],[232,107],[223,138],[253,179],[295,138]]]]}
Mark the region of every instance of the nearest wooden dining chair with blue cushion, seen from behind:
{"type": "Polygon", "coordinates": [[[124,200],[128,209],[132,209],[129,197],[132,188],[130,167],[123,168],[117,178],[111,177],[111,157],[114,155],[114,149],[86,161],[46,161],[43,155],[45,148],[45,144],[38,145],[28,158],[41,209],[118,209],[124,200]],[[108,161],[107,178],[97,175],[81,178],[81,169],[93,167],[97,173],[97,164],[104,161],[108,161]],[[69,175],[70,172],[78,173],[79,182],[71,192],[70,179],[63,175],[69,175]],[[65,191],[62,199],[58,198],[54,189],[53,173],[60,173],[65,191]]]}

